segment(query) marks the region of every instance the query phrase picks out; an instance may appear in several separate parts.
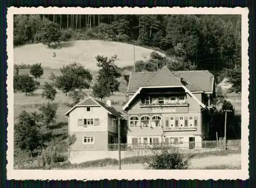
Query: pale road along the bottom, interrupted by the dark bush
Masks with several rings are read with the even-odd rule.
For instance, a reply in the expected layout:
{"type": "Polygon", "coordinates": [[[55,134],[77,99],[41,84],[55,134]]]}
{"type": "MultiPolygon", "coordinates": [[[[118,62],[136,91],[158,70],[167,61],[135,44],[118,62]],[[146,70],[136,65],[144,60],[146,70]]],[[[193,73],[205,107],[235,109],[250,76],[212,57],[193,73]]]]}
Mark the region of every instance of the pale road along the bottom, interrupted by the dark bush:
{"type": "MultiPolygon", "coordinates": [[[[209,166],[240,166],[241,154],[230,154],[225,156],[207,156],[202,158],[191,159],[189,169],[202,169],[209,166]]],[[[90,167],[84,168],[86,170],[118,170],[118,166],[105,166],[105,167],[90,167]]],[[[143,170],[142,164],[125,164],[121,165],[122,170],[143,170]]]]}

